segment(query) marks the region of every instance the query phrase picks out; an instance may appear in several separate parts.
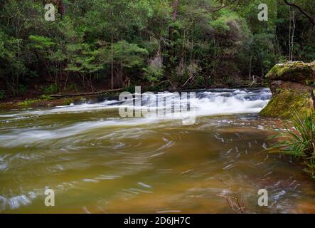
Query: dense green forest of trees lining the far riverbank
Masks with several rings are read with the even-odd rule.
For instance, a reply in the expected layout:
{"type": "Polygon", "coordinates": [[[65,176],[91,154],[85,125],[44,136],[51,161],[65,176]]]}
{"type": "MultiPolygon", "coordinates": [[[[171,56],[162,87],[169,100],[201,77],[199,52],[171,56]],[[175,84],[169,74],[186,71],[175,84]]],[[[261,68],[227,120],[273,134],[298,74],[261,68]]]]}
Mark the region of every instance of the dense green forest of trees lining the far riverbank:
{"type": "Polygon", "coordinates": [[[1,0],[0,99],[255,86],[315,59],[314,15],[313,0],[1,0]]]}

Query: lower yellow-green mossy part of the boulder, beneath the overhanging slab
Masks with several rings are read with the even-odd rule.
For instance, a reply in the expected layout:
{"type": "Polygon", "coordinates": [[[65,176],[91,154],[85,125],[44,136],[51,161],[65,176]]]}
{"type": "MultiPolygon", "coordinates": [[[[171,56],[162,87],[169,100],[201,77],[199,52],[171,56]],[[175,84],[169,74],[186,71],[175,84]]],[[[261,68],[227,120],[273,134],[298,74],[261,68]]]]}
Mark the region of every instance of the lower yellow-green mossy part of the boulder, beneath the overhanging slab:
{"type": "Polygon", "coordinates": [[[273,118],[291,118],[294,110],[297,110],[298,113],[310,113],[313,109],[311,93],[282,90],[272,97],[260,115],[273,118]]]}

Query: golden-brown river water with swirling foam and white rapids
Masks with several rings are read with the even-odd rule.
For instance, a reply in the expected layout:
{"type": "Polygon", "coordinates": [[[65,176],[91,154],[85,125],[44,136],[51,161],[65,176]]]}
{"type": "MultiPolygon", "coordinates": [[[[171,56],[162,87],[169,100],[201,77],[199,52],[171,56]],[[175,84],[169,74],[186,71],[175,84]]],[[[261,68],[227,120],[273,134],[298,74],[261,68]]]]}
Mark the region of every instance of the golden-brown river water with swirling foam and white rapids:
{"type": "Polygon", "coordinates": [[[0,213],[315,213],[314,180],[265,151],[267,88],[200,90],[196,123],[121,118],[119,102],[0,111],[0,213]],[[257,204],[268,191],[268,207],[257,204]],[[46,189],[55,207],[46,207],[46,189]]]}

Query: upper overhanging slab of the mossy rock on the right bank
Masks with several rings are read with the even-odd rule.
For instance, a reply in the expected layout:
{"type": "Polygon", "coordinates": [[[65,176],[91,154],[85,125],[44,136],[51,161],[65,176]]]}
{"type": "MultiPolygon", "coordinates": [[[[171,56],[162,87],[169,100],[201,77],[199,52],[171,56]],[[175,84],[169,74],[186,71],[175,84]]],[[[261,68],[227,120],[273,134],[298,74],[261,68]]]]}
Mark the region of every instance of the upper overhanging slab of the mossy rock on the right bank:
{"type": "Polygon", "coordinates": [[[268,81],[291,81],[315,86],[315,61],[279,63],[267,73],[266,78],[268,81]]]}

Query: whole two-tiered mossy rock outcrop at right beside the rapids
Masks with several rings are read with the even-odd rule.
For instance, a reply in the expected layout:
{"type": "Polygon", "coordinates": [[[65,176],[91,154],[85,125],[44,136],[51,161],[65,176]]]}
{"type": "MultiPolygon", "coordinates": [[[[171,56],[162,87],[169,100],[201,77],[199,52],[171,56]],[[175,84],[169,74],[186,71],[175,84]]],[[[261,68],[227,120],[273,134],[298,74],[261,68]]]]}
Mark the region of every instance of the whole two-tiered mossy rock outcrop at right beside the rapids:
{"type": "Polygon", "coordinates": [[[272,90],[272,100],[260,115],[290,118],[294,110],[299,113],[314,110],[315,61],[277,64],[266,78],[272,90]]]}

